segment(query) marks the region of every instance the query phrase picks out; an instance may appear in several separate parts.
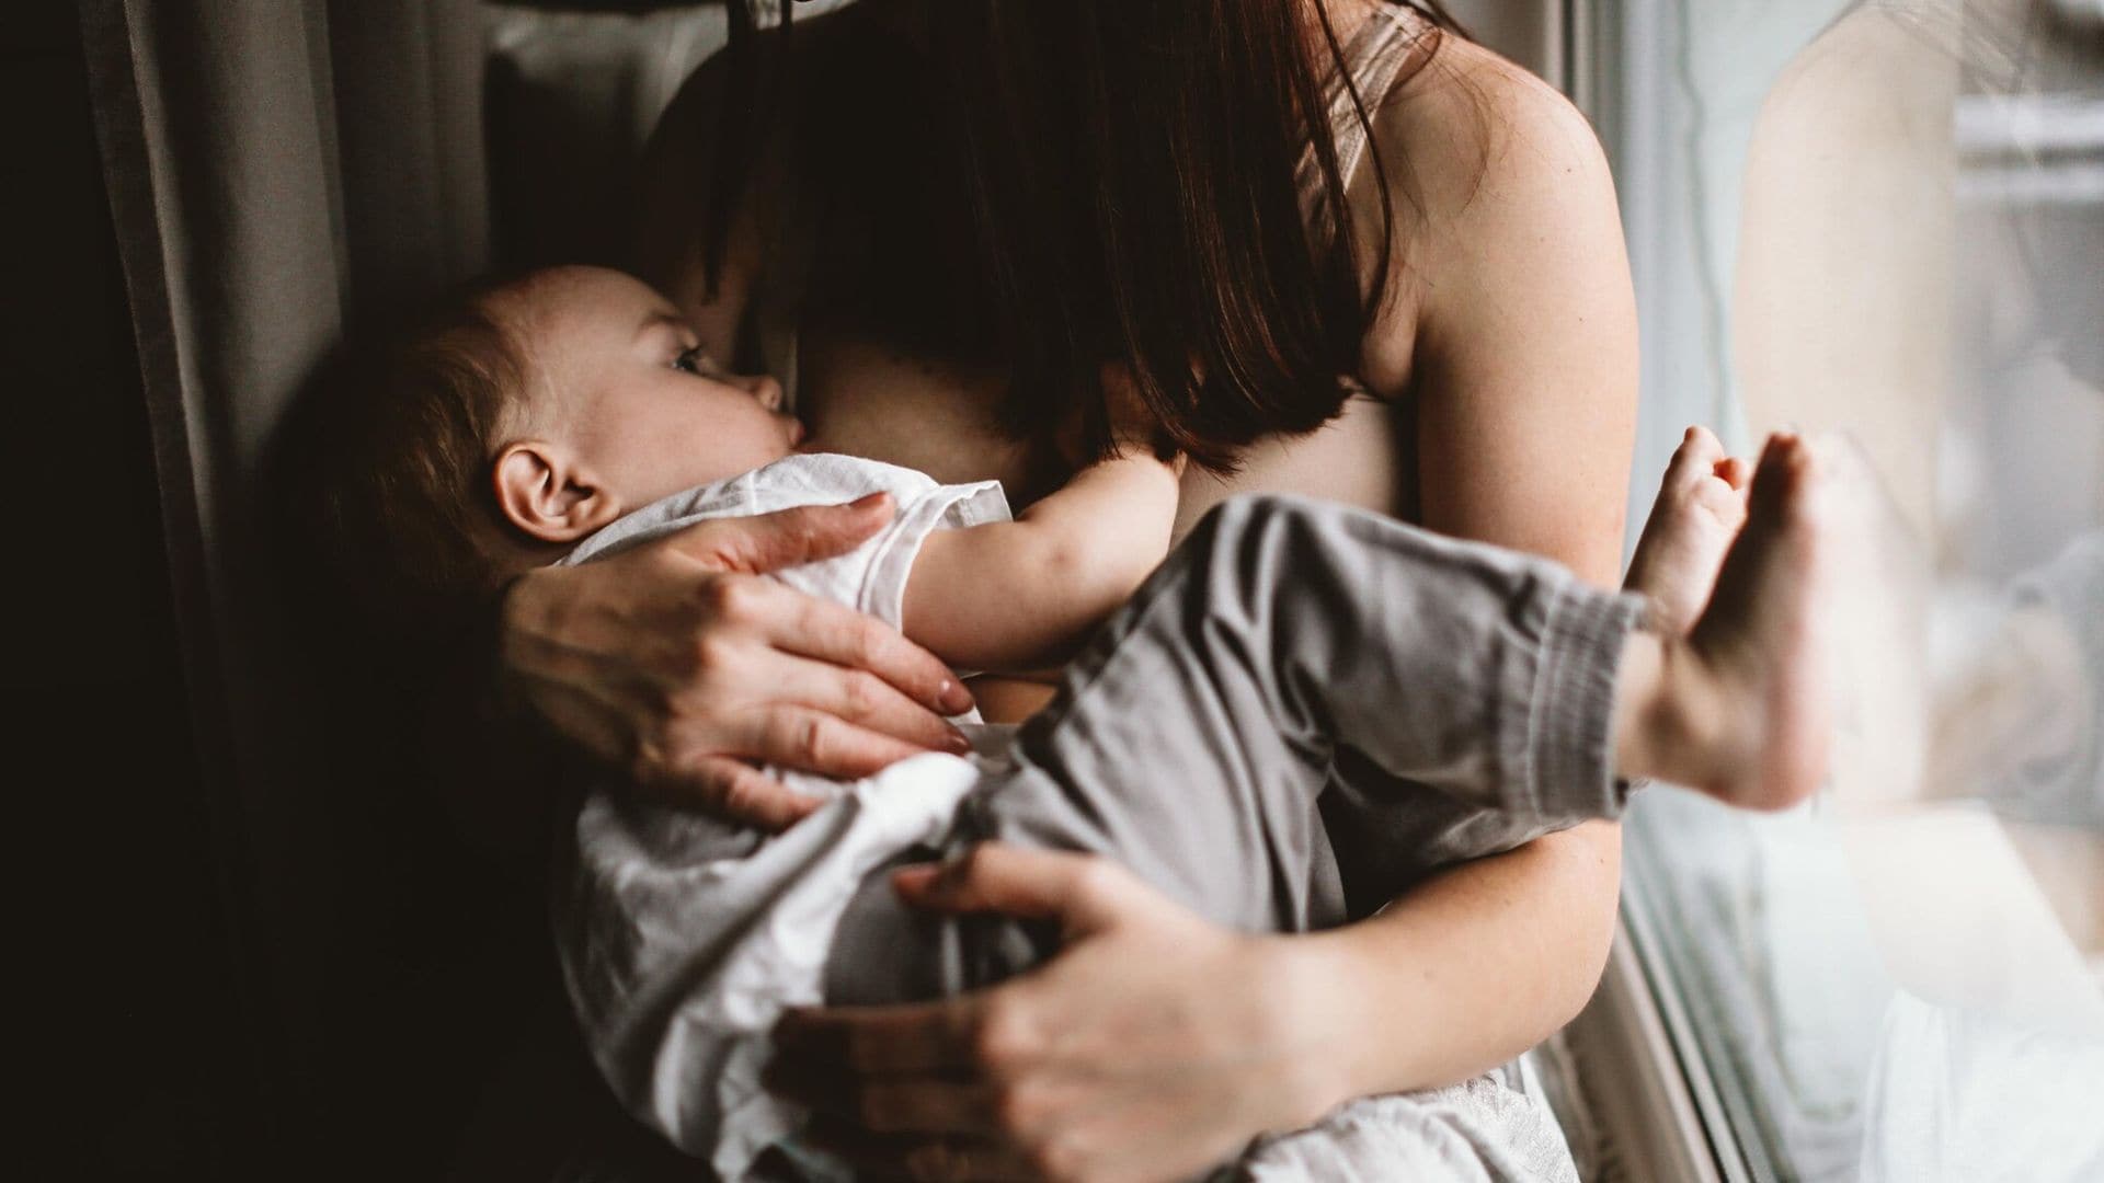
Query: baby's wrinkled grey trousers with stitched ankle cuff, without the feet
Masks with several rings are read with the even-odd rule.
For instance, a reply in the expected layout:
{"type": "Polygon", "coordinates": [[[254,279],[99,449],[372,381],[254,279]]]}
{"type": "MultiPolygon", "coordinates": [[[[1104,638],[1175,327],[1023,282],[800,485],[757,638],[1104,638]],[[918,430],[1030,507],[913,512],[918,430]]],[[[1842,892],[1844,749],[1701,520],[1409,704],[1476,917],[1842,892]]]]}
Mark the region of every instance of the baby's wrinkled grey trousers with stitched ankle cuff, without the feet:
{"type": "Polygon", "coordinates": [[[1216,922],[1304,928],[1323,821],[1387,825],[1433,791],[1534,829],[1614,815],[1639,610],[1517,552],[1231,501],[1069,667],[964,838],[1109,855],[1216,922]],[[1336,770],[1368,781],[1365,817],[1317,819],[1336,770]]]}

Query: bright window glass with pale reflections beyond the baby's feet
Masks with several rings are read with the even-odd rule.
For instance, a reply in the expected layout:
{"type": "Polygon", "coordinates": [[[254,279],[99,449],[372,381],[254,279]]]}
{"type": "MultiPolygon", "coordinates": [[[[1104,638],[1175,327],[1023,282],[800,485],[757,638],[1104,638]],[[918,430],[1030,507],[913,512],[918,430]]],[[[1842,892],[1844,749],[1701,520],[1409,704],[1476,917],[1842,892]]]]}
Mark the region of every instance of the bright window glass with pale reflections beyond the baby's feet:
{"type": "Polygon", "coordinates": [[[1610,13],[1639,501],[1837,427],[1894,520],[1820,798],[1631,810],[1681,1059],[1757,1177],[2104,1179],[2104,4],[1610,13]]]}

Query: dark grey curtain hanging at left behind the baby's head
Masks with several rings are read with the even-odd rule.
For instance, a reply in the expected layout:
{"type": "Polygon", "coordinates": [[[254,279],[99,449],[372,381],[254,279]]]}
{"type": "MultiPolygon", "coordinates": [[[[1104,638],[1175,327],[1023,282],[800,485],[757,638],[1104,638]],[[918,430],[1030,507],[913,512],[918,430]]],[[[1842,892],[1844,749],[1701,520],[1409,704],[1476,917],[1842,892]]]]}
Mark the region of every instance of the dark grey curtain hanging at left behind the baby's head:
{"type": "MultiPolygon", "coordinates": [[[[452,857],[370,669],[292,627],[267,446],[360,316],[482,267],[469,0],[82,0],[97,137],[154,434],[191,724],[274,1177],[436,1177],[501,1059],[452,857]],[[410,821],[404,821],[410,817],[410,821]],[[446,1031],[454,1038],[442,1038],[446,1031]],[[484,1063],[478,1063],[484,1061],[484,1063]]],[[[118,819],[120,821],[120,819],[118,819]]],[[[484,901],[486,903],[486,901],[484,901]]],[[[524,924],[524,922],[515,922],[524,924]]],[[[490,958],[486,964],[499,964],[490,958]]],[[[154,975],[183,966],[141,966],[154,975]]],[[[252,1124],[250,1124],[252,1122],[252,1124]]]]}

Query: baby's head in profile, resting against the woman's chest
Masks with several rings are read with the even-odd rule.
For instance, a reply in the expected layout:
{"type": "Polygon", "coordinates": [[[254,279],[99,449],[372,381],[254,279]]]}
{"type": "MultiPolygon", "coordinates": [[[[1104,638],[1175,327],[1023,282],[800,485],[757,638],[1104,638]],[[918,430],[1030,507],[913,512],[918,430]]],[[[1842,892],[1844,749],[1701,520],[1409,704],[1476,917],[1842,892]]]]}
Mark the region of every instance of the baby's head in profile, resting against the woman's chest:
{"type": "Polygon", "coordinates": [[[484,284],[349,362],[324,408],[322,530],[404,623],[452,621],[614,518],[804,436],[774,379],[722,370],[665,297],[602,267],[484,284]]]}

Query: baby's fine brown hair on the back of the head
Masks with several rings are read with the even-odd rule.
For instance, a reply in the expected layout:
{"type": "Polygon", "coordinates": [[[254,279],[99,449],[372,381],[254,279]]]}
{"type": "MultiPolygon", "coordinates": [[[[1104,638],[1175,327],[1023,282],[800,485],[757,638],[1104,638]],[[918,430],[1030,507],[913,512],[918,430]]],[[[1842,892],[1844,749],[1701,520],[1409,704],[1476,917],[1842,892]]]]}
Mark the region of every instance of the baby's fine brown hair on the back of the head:
{"type": "Polygon", "coordinates": [[[490,461],[528,373],[488,312],[499,286],[476,282],[402,328],[347,341],[292,432],[309,486],[307,520],[292,524],[318,573],[385,636],[450,636],[509,575],[490,461]]]}

